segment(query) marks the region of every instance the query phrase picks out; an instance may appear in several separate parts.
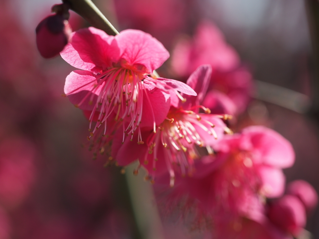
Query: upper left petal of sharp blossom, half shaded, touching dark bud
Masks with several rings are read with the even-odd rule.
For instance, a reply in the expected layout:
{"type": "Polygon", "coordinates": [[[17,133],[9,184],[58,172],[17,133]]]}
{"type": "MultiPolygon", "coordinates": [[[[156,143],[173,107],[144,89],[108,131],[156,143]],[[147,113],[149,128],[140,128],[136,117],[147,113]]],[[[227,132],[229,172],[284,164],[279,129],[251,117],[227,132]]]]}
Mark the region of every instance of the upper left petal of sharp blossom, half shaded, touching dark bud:
{"type": "Polygon", "coordinates": [[[111,44],[114,36],[109,36],[94,27],[80,29],[72,33],[71,42],[60,53],[70,65],[98,73],[118,60],[119,49],[111,44]]]}

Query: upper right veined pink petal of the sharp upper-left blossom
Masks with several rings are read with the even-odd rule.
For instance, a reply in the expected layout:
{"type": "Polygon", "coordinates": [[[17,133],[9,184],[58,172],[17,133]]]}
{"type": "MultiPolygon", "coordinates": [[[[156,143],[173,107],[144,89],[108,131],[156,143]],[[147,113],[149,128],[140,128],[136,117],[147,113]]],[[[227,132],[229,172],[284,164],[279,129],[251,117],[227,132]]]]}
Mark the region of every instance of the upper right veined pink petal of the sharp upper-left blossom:
{"type": "Polygon", "coordinates": [[[115,39],[120,49],[120,58],[132,66],[144,65],[149,73],[159,68],[169,57],[162,43],[140,30],[124,30],[115,39]]]}

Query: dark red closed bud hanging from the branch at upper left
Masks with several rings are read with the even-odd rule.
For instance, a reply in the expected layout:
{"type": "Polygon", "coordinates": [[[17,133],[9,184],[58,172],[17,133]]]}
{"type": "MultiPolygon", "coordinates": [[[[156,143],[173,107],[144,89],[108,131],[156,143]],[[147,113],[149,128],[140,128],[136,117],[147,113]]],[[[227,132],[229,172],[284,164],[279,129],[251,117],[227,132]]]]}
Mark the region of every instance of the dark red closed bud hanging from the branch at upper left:
{"type": "Polygon", "coordinates": [[[44,18],[35,32],[40,54],[44,58],[52,58],[68,44],[72,29],[63,15],[53,14],[44,18]]]}

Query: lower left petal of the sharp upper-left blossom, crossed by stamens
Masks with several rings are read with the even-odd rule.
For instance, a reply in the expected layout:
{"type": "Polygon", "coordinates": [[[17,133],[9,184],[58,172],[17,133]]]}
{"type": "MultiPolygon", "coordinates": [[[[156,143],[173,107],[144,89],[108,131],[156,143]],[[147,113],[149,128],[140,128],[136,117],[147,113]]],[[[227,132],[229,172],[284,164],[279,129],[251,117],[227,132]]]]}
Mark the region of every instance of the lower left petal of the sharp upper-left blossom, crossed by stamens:
{"type": "Polygon", "coordinates": [[[85,98],[83,103],[79,105],[79,108],[81,110],[92,111],[95,104],[89,104],[91,96],[94,94],[94,102],[97,99],[97,95],[100,93],[100,88],[96,89],[94,93],[92,92],[94,84],[96,84],[96,76],[91,71],[75,70],[65,79],[64,93],[74,105],[80,104],[85,98]]]}

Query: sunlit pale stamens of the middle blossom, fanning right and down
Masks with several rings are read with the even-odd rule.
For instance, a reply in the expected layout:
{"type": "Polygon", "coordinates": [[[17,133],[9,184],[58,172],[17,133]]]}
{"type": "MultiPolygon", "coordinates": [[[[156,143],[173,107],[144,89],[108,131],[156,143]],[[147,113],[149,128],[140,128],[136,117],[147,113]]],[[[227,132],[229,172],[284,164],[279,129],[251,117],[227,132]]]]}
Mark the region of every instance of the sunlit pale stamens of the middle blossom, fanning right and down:
{"type": "MultiPolygon", "coordinates": [[[[201,136],[198,134],[196,127],[204,129],[209,135],[217,138],[213,130],[214,125],[204,120],[199,114],[193,111],[176,109],[171,107],[167,114],[167,119],[159,125],[159,131],[151,133],[147,139],[148,154],[145,154],[144,164],[148,164],[152,154],[152,167],[156,170],[156,161],[160,145],[164,147],[164,158],[171,177],[170,185],[174,185],[173,165],[181,169],[182,175],[186,172],[193,173],[193,161],[200,157],[195,145],[204,146],[201,136]]],[[[139,143],[144,143],[139,141],[139,143]]],[[[154,177],[154,175],[152,176],[154,177]]]]}

